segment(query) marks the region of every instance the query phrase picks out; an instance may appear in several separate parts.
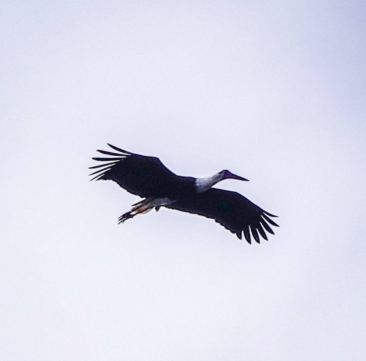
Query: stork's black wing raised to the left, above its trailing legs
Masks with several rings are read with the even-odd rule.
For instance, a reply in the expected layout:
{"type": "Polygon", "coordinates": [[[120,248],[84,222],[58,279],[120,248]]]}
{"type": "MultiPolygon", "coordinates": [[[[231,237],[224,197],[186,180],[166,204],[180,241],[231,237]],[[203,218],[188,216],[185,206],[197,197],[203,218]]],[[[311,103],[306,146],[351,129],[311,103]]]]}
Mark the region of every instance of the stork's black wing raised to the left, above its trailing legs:
{"type": "Polygon", "coordinates": [[[110,155],[110,158],[93,158],[104,161],[107,164],[90,168],[100,168],[90,175],[97,174],[93,180],[111,179],[122,188],[140,197],[168,197],[169,190],[173,188],[177,179],[182,178],[167,167],[156,157],[147,157],[130,153],[111,144],[109,147],[120,153],[112,153],[98,150],[98,152],[110,155]]]}

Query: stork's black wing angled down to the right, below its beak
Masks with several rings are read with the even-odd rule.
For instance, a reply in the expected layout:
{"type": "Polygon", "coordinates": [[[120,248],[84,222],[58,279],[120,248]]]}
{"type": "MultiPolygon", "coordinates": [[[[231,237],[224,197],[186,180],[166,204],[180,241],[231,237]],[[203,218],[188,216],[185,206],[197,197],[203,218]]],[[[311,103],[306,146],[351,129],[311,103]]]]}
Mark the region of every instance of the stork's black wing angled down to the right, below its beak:
{"type": "Polygon", "coordinates": [[[279,227],[268,217],[277,216],[259,208],[241,194],[223,189],[211,188],[165,207],[213,218],[232,233],[236,233],[239,239],[242,239],[243,232],[249,243],[251,243],[249,228],[259,243],[258,232],[266,240],[268,239],[264,229],[274,234],[268,223],[279,227]]]}

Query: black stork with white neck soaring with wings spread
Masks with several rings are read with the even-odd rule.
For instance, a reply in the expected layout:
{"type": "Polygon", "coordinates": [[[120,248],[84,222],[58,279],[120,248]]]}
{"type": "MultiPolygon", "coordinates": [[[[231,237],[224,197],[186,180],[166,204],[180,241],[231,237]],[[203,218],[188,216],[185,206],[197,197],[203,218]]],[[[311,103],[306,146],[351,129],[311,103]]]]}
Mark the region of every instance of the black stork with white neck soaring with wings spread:
{"type": "Polygon", "coordinates": [[[279,227],[269,218],[277,216],[259,208],[243,195],[212,188],[223,179],[248,179],[228,170],[206,178],[184,177],[174,174],[157,157],[139,155],[108,145],[119,153],[97,150],[112,157],[93,158],[108,163],[90,167],[89,169],[104,167],[91,173],[90,175],[97,175],[90,180],[111,179],[128,192],[145,198],[133,204],[130,212],[120,216],[119,224],[153,208],[158,211],[160,207],[166,207],[213,218],[232,233],[236,233],[239,239],[244,234],[249,243],[250,231],[259,243],[258,232],[268,240],[264,230],[275,234],[269,224],[279,227]]]}

